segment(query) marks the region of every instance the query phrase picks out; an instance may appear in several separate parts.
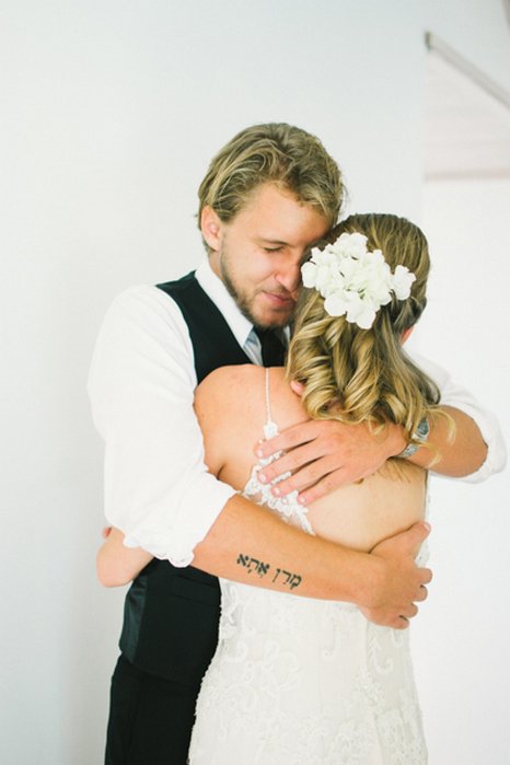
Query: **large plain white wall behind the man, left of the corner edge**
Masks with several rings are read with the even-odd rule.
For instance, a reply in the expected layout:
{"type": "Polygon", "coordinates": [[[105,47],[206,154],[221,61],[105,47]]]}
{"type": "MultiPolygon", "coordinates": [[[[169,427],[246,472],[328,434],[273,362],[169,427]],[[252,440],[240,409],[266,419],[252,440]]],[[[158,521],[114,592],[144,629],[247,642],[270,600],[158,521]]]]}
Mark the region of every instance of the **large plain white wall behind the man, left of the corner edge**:
{"type": "Polygon", "coordinates": [[[102,447],[85,379],[107,305],[196,265],[198,184],[256,121],[320,135],[352,209],[417,219],[424,8],[2,4],[0,762],[102,758],[124,593],[95,582],[102,447]]]}

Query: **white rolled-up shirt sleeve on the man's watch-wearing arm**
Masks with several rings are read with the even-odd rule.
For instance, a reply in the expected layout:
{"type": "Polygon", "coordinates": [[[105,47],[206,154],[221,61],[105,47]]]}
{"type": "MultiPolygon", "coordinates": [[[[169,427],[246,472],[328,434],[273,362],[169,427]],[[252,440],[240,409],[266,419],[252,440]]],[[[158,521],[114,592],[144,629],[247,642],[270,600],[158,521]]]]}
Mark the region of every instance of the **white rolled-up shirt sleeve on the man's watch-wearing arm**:
{"type": "MultiPolygon", "coordinates": [[[[439,386],[441,404],[455,407],[468,415],[478,426],[482,438],[487,444],[487,457],[484,464],[475,473],[466,475],[460,480],[479,484],[495,473],[500,473],[507,463],[507,448],[496,416],[482,406],[467,389],[453,382],[442,367],[414,351],[409,356],[439,386]]],[[[439,477],[447,478],[448,476],[439,477]]]]}

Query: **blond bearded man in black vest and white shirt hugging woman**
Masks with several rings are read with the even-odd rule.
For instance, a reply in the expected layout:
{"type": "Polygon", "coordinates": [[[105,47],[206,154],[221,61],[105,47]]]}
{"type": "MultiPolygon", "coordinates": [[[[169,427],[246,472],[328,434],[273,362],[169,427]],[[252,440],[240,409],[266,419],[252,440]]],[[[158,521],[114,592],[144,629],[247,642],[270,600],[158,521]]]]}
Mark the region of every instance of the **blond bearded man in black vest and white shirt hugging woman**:
{"type": "MultiPolygon", "coordinates": [[[[285,579],[254,579],[247,561],[263,560],[295,575],[288,579],[300,582],[294,594],[350,601],[368,618],[396,628],[417,613],[414,603],[425,600],[431,578],[414,563],[426,524],[370,555],[356,553],[282,524],[207,473],[194,389],[221,366],[282,362],[301,258],[336,222],[343,186],[316,138],[271,124],[243,130],[217,154],[199,198],[209,258],[178,281],[117,298],[89,381],[105,439],[108,522],[126,534],[127,546],[160,558],[126,598],[112,681],[112,765],[185,765],[195,699],[217,642],[216,577],[288,591],[285,579]]],[[[472,399],[449,397],[447,386],[443,403],[459,434],[449,445],[441,424],[432,427],[430,438],[442,451],[434,470],[467,475],[485,461],[480,477],[488,475],[495,457],[486,460],[478,427],[461,410],[474,410],[472,399]]],[[[332,420],[279,438],[260,448],[264,455],[302,445],[267,468],[266,478],[291,467],[293,477],[279,488],[315,484],[303,491],[305,502],[372,473],[406,448],[396,426],[378,444],[363,427],[332,420]]],[[[421,449],[409,459],[425,465],[429,457],[421,449]]]]}

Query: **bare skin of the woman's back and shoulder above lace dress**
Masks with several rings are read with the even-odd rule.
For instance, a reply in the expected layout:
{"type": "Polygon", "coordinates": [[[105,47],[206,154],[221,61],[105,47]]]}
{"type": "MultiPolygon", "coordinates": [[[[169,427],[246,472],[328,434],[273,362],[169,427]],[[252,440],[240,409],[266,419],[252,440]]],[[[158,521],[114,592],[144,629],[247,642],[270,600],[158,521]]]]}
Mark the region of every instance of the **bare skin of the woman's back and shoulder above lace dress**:
{"type": "MultiPolygon", "coordinates": [[[[279,432],[308,419],[283,369],[269,370],[268,402],[279,432]]],[[[242,491],[257,464],[255,448],[268,420],[265,369],[248,364],[217,370],[197,389],[195,406],[207,465],[242,491]]],[[[426,472],[403,460],[391,461],[362,482],[313,502],[308,518],[318,536],[370,550],[424,519],[425,495],[426,472]]]]}

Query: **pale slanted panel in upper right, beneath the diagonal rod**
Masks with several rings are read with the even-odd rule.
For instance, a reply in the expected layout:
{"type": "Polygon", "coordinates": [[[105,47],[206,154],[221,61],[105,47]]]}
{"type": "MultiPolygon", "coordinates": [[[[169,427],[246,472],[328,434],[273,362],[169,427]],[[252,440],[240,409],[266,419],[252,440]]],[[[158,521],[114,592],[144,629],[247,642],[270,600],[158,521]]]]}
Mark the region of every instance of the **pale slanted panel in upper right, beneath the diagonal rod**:
{"type": "Polygon", "coordinates": [[[510,177],[510,93],[432,35],[426,72],[426,178],[510,177]]]}

